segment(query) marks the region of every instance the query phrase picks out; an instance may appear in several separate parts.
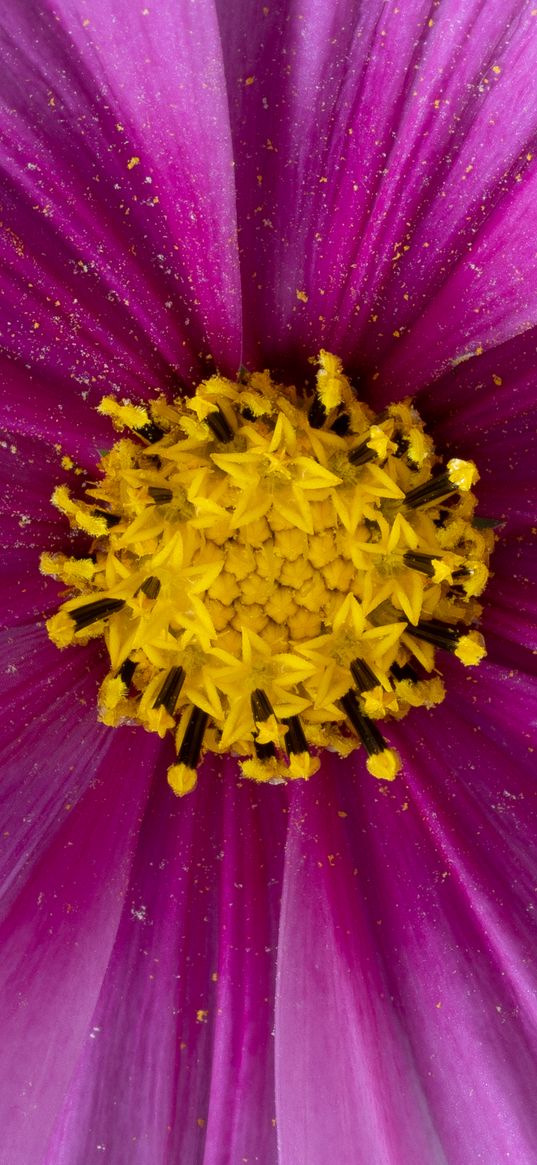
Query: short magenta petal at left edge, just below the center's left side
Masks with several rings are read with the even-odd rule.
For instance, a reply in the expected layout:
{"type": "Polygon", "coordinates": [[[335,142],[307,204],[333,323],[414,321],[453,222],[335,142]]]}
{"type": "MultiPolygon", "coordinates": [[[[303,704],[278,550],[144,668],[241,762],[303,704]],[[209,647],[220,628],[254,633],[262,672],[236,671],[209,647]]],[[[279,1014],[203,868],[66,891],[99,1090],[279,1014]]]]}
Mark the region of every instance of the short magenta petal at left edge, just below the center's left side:
{"type": "Polygon", "coordinates": [[[94,649],[61,657],[42,627],[0,635],[2,916],[111,747],[109,730],[96,718],[98,670],[96,680],[89,677],[96,663],[98,669],[94,649]]]}

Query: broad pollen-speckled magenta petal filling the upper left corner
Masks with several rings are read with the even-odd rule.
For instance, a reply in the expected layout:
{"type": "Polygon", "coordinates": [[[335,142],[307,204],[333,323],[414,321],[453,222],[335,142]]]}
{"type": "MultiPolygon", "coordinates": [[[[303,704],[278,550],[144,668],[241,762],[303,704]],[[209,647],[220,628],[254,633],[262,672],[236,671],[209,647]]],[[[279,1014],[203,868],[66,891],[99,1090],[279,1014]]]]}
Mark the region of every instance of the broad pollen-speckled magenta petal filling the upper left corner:
{"type": "Polygon", "coordinates": [[[19,5],[2,24],[15,429],[36,411],[58,431],[61,404],[189,381],[209,355],[234,372],[233,157],[211,0],[19,5]]]}

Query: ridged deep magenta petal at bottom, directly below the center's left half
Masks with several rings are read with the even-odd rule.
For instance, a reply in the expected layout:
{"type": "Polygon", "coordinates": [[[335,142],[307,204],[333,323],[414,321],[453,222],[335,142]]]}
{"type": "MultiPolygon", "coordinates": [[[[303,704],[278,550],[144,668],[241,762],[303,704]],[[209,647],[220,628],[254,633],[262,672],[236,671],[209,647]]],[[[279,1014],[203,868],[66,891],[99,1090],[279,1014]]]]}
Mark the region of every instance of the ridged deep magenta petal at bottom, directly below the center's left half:
{"type": "Polygon", "coordinates": [[[276,1165],[271,1039],[287,804],[204,765],[155,785],[89,1039],[47,1165],[276,1165]],[[225,1148],[224,1148],[225,1146],[225,1148]]]}

